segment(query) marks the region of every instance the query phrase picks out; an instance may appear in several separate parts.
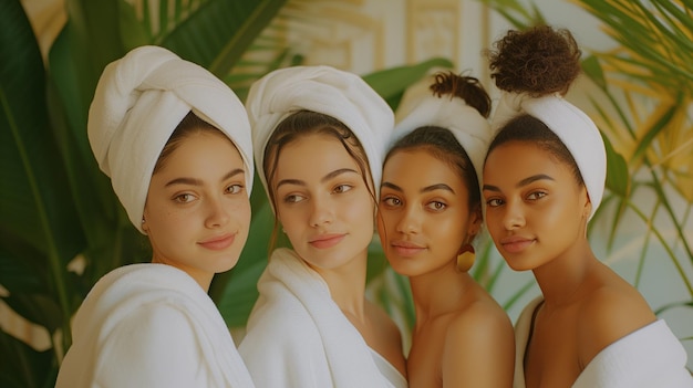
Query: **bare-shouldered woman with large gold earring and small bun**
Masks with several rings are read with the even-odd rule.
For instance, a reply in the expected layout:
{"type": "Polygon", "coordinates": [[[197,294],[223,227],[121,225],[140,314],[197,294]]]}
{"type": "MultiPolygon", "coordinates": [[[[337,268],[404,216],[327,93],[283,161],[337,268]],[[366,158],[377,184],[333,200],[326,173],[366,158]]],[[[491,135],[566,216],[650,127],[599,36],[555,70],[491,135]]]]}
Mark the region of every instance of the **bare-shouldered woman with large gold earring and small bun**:
{"type": "Polygon", "coordinates": [[[476,78],[454,73],[436,74],[431,92],[395,127],[380,191],[381,242],[408,276],[416,312],[410,387],[510,387],[513,325],[467,273],[490,99],[476,78]]]}

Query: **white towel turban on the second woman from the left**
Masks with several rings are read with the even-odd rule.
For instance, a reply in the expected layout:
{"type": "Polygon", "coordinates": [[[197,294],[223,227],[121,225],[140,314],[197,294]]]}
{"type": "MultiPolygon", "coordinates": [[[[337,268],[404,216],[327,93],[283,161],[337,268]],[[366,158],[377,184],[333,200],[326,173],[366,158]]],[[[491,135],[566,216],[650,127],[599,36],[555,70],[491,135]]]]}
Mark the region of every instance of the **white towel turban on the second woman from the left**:
{"type": "Polygon", "coordinates": [[[263,168],[267,141],[289,115],[311,111],[334,117],[351,129],[365,150],[377,195],[394,114],[359,75],[323,65],[276,70],[252,84],[246,109],[256,165],[268,193],[263,168]]]}

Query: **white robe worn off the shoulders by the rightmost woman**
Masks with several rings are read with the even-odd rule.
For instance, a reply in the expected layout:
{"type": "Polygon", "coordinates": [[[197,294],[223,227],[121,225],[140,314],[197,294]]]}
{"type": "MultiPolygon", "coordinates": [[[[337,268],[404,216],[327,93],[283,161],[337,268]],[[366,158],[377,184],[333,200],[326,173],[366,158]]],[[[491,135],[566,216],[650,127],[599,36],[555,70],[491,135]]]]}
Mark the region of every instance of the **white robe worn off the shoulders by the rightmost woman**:
{"type": "MultiPolygon", "coordinates": [[[[515,388],[525,388],[525,350],[534,312],[542,301],[531,301],[515,325],[515,388]]],[[[691,388],[693,378],[685,365],[685,349],[659,319],[602,349],[572,388],[691,388]]]]}

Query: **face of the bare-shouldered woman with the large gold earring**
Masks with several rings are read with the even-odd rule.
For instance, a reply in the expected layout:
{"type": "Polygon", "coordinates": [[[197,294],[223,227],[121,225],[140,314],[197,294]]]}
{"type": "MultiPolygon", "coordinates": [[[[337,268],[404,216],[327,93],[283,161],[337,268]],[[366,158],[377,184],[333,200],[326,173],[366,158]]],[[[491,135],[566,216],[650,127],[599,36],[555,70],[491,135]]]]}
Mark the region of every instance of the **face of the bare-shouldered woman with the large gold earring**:
{"type": "Polygon", "coordinates": [[[457,251],[480,226],[457,169],[424,148],[397,150],[380,192],[377,229],[392,268],[406,276],[454,270],[457,251]]]}

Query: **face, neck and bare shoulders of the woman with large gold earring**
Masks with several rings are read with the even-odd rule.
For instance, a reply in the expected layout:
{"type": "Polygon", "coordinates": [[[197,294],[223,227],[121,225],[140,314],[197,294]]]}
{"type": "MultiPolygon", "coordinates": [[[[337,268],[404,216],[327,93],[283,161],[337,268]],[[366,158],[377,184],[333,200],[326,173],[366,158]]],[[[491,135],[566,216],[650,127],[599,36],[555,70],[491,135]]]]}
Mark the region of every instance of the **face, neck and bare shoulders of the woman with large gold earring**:
{"type": "Polygon", "coordinates": [[[379,233],[392,268],[410,279],[416,313],[412,388],[511,386],[513,325],[456,265],[482,223],[468,196],[459,171],[426,147],[396,150],[383,168],[379,233]]]}

